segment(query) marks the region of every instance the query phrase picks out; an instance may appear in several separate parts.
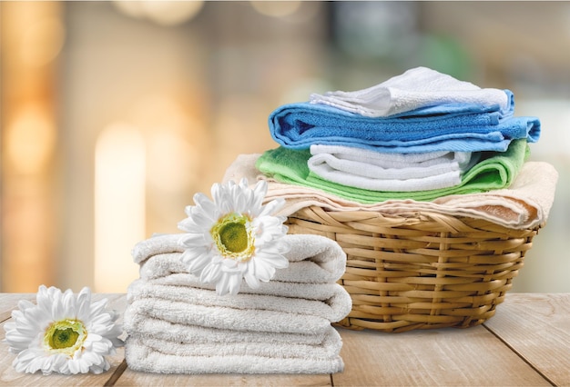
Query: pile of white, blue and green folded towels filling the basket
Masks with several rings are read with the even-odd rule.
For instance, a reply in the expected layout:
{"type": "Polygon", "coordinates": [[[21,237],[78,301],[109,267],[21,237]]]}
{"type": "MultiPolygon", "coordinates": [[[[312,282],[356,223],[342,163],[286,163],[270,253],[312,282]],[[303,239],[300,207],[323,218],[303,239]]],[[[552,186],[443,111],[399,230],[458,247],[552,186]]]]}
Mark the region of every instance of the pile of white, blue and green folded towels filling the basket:
{"type": "Polygon", "coordinates": [[[540,136],[508,90],[418,67],[358,92],[312,94],[270,114],[275,180],[357,203],[432,201],[510,186],[540,136]]]}

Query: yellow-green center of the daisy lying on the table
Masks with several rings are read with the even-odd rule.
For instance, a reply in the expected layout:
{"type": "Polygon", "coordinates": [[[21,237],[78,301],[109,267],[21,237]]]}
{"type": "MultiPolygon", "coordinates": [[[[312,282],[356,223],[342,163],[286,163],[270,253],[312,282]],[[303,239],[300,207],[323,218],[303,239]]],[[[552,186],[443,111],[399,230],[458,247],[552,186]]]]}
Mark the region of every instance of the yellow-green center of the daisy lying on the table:
{"type": "Polygon", "coordinates": [[[83,323],[78,320],[62,320],[47,327],[44,346],[50,352],[73,356],[86,339],[87,331],[83,323]]]}

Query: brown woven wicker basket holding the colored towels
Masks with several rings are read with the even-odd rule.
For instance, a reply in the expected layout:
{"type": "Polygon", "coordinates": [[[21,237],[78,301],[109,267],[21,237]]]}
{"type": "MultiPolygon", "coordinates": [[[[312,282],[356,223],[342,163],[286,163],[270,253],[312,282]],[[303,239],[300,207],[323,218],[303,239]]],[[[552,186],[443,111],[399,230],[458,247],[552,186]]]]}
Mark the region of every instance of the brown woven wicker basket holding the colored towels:
{"type": "Polygon", "coordinates": [[[405,332],[467,328],[494,315],[540,227],[513,230],[441,213],[385,216],[308,207],[289,233],[331,238],[347,254],[351,313],[337,325],[405,332]]]}

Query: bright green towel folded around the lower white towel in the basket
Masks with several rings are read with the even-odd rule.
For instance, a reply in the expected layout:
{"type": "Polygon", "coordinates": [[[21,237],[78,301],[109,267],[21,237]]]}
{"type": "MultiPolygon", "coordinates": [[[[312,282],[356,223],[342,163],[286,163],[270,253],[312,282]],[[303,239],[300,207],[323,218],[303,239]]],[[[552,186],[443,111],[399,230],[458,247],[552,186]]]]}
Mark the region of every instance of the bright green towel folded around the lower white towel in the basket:
{"type": "Polygon", "coordinates": [[[450,194],[482,193],[507,188],[513,182],[529,155],[525,139],[513,140],[505,152],[483,152],[481,161],[463,174],[461,184],[429,191],[382,192],[336,184],[312,174],[307,166],[309,150],[283,147],[261,154],[256,167],[262,174],[281,183],[321,189],[358,203],[379,203],[391,199],[431,201],[450,194]]]}

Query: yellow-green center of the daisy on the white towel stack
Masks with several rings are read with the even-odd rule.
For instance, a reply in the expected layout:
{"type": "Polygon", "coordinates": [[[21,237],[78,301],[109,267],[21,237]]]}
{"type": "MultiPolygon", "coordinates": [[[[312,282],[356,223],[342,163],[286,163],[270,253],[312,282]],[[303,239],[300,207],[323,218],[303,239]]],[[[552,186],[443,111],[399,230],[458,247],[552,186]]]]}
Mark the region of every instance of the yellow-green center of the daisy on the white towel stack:
{"type": "Polygon", "coordinates": [[[211,228],[210,234],[224,258],[239,262],[249,261],[255,251],[255,238],[248,229],[248,223],[248,216],[229,213],[219,218],[211,228]]]}

